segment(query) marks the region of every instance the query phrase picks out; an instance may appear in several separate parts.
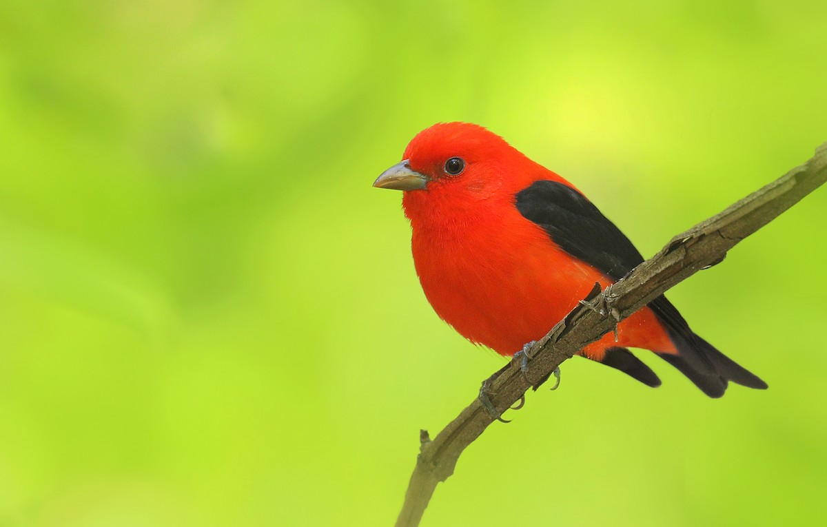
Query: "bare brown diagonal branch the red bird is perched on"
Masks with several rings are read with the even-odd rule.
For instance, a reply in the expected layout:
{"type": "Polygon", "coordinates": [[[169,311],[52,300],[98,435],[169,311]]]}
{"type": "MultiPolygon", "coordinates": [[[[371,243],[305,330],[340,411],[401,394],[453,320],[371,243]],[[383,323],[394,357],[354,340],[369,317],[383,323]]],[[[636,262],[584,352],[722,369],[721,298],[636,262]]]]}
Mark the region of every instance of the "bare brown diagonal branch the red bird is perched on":
{"type": "MultiPolygon", "coordinates": [[[[566,358],[614,330],[619,320],[632,315],[700,269],[718,264],[739,241],[767,225],[825,182],[827,143],[821,145],[804,165],[791,169],[782,178],[725,211],[675,236],[653,258],[604,291],[595,287],[585,305],[576,306],[548,335],[533,345],[529,351],[533,358],[528,374],[520,371],[519,360],[512,360],[486,381],[490,401],[498,412],[508,410],[533,386],[527,377],[535,379],[534,382],[547,378],[566,358]]],[[[433,440],[422,430],[420,453],[396,520],[397,527],[419,524],[437,483],[452,475],[462,451],[494,420],[480,400],[475,399],[433,440]]]]}

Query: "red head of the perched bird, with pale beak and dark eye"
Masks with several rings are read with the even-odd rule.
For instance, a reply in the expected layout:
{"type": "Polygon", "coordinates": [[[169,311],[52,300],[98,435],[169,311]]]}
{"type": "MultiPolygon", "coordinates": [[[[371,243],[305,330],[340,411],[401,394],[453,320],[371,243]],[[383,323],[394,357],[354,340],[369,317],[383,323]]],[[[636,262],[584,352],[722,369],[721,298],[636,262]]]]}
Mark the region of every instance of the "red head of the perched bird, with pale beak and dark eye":
{"type": "Polygon", "coordinates": [[[402,158],[373,186],[406,191],[406,201],[414,194],[486,199],[516,183],[514,178],[528,177],[515,174],[515,169],[534,165],[499,135],[466,122],[426,128],[411,140],[402,158]]]}

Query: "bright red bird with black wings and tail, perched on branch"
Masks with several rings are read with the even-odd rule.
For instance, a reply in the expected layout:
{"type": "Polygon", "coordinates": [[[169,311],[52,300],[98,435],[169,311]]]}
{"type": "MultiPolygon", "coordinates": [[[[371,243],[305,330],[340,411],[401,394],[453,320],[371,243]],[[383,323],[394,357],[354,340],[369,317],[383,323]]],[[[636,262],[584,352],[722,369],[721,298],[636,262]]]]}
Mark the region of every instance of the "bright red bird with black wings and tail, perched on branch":
{"type": "MultiPolygon", "coordinates": [[[[404,191],[425,296],[466,339],[511,356],[586,297],[643,262],[632,242],[571,183],[499,135],[463,122],[420,132],[375,187],[404,191]]],[[[651,387],[660,379],[628,347],[650,349],[706,395],[729,381],[767,384],[721,354],[657,297],[581,351],[651,387]]]]}

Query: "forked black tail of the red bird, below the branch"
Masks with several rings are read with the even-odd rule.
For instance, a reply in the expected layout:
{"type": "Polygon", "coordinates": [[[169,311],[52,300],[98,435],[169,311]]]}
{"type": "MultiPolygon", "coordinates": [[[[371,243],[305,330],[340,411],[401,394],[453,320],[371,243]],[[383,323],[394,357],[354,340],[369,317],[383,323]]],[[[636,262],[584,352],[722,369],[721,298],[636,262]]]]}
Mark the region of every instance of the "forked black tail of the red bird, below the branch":
{"type": "Polygon", "coordinates": [[[678,354],[658,354],[689,377],[706,395],[724,395],[729,381],[763,390],[767,383],[739,366],[689,329],[675,306],[666,297],[657,297],[648,305],[667,329],[678,354]]]}

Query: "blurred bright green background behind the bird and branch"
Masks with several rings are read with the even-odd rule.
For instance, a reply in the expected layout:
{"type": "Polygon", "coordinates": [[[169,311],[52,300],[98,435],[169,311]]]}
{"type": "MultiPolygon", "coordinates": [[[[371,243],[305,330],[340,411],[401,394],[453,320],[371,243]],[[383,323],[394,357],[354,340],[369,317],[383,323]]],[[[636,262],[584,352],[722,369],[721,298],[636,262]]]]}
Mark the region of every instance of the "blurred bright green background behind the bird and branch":
{"type": "MultiPolygon", "coordinates": [[[[474,121],[651,255],[827,140],[825,2],[0,2],[0,526],[390,525],[503,363],[399,193],[474,121]]],[[[670,297],[767,392],[581,359],[424,525],[827,515],[827,189],[670,297]]]]}

